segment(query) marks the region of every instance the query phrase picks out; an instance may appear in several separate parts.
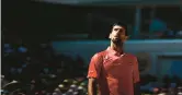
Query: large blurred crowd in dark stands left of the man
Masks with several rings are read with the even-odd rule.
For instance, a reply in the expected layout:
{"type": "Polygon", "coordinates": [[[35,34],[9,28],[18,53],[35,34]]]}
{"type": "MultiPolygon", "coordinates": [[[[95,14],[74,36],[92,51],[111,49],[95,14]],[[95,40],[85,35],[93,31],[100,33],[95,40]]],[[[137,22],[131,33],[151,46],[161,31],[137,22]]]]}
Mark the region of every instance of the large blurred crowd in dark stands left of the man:
{"type": "Polygon", "coordinates": [[[78,86],[77,91],[84,86],[82,59],[79,56],[55,55],[48,41],[4,41],[2,49],[2,95],[62,95],[58,91],[69,90],[72,84],[78,86]]]}

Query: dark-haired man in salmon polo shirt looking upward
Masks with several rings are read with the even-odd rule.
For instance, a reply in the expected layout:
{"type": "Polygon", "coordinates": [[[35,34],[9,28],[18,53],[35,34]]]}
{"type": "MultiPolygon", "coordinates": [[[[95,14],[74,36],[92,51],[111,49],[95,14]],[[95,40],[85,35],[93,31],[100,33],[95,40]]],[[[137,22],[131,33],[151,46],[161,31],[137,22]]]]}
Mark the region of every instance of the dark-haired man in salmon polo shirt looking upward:
{"type": "Polygon", "coordinates": [[[123,50],[123,44],[127,39],[125,25],[115,23],[109,38],[110,47],[91,59],[88,93],[96,95],[98,83],[99,95],[134,95],[136,88],[139,88],[139,71],[137,58],[123,50]]]}

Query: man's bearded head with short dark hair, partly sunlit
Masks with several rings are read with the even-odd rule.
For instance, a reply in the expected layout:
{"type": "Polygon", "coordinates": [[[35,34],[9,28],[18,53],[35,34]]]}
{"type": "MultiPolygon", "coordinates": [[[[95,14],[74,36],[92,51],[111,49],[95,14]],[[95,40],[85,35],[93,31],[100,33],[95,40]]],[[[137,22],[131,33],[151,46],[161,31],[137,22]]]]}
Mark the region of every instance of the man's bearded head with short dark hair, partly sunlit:
{"type": "Polygon", "coordinates": [[[112,28],[112,32],[110,34],[110,39],[113,41],[113,43],[124,43],[124,37],[126,34],[126,31],[123,26],[120,26],[120,25],[115,25],[113,26],[112,28]]]}

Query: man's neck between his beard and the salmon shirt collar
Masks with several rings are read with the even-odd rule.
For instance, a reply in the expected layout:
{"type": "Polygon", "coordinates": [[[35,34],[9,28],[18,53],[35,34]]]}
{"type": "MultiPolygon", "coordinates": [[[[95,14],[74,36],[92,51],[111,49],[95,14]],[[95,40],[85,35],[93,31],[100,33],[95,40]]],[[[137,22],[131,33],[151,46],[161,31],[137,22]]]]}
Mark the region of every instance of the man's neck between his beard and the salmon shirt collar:
{"type": "Polygon", "coordinates": [[[121,55],[123,54],[123,44],[114,44],[113,41],[111,41],[111,46],[110,46],[113,50],[120,52],[121,55]]]}

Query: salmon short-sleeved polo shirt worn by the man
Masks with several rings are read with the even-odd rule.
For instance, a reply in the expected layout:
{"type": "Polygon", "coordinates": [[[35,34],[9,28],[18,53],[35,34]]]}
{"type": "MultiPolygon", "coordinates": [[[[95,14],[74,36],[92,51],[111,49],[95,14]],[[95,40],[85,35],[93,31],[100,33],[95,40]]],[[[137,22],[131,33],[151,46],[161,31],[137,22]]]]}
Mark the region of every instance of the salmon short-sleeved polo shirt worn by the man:
{"type": "Polygon", "coordinates": [[[91,58],[88,78],[96,79],[99,95],[134,95],[134,83],[139,82],[137,58],[109,47],[91,58]]]}

